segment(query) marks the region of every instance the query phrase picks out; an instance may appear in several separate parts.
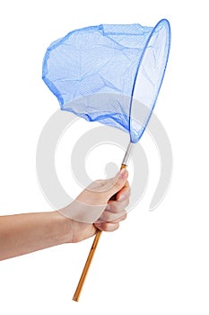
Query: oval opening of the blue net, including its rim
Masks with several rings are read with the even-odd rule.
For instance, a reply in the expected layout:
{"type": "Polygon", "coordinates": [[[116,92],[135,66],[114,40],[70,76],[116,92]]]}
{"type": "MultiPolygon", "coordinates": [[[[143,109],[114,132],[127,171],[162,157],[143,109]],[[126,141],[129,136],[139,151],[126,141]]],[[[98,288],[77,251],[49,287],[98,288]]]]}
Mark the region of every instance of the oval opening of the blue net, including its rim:
{"type": "Polygon", "coordinates": [[[161,20],[152,29],[136,69],[131,95],[129,130],[137,142],[149,122],[160,93],[170,53],[170,23],[161,20]]]}

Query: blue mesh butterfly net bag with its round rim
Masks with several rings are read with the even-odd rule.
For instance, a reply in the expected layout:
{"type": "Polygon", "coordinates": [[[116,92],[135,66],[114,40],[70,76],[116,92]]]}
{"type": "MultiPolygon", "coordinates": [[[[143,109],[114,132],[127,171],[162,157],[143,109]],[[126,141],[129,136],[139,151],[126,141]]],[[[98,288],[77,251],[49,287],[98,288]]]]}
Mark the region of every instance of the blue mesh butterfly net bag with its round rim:
{"type": "Polygon", "coordinates": [[[61,109],[129,132],[137,142],[161,88],[170,24],[102,24],[54,41],[42,77],[61,109]]]}

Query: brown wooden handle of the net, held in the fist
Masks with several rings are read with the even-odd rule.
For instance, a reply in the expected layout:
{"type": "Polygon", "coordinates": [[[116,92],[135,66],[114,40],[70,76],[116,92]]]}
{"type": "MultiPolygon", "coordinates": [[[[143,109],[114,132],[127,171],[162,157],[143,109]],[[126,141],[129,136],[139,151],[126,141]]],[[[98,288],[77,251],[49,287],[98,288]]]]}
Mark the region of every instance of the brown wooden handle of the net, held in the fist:
{"type": "MultiPolygon", "coordinates": [[[[126,168],[126,165],[125,164],[122,164],[120,169],[122,168],[126,168]]],[[[112,196],[111,197],[111,200],[115,200],[116,199],[116,195],[112,196]]],[[[86,275],[88,273],[88,270],[89,270],[89,267],[91,265],[91,261],[92,261],[92,258],[93,258],[93,255],[95,253],[95,250],[98,246],[98,243],[99,243],[99,240],[100,240],[100,236],[101,236],[101,230],[98,229],[97,230],[97,233],[94,237],[94,240],[93,240],[93,243],[91,245],[91,249],[90,249],[90,252],[89,252],[89,256],[87,257],[87,260],[86,260],[86,263],[85,263],[85,266],[83,267],[83,273],[81,275],[81,278],[79,280],[79,283],[77,284],[77,288],[74,292],[74,297],[73,297],[73,300],[75,302],[78,302],[79,300],[79,297],[80,297],[80,294],[82,292],[82,288],[83,288],[83,284],[84,284],[84,281],[85,281],[85,278],[86,278],[86,275]]]]}

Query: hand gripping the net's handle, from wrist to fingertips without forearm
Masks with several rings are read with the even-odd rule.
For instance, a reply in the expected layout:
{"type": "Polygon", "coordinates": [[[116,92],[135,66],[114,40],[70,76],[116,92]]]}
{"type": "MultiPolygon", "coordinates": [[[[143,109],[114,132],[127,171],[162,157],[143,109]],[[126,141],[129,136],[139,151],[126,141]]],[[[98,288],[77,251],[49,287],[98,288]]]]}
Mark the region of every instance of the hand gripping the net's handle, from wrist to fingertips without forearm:
{"type": "Polygon", "coordinates": [[[67,207],[59,212],[71,220],[69,242],[90,238],[97,229],[113,231],[126,219],[130,187],[126,169],[115,177],[91,183],[67,207]],[[116,200],[109,200],[116,194],[116,200]],[[73,233],[72,233],[73,231],[73,233]]]}

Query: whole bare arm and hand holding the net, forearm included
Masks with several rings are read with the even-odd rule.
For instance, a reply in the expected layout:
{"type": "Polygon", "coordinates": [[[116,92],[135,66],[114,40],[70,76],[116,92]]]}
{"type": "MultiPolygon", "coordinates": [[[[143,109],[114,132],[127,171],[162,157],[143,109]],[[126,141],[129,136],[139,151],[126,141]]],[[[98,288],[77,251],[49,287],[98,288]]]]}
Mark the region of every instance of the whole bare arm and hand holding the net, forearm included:
{"type": "Polygon", "coordinates": [[[118,229],[126,218],[129,195],[124,170],[113,178],[93,182],[60,211],[0,216],[0,260],[78,242],[93,236],[97,229],[118,229]],[[115,194],[116,200],[110,201],[115,194]]]}

